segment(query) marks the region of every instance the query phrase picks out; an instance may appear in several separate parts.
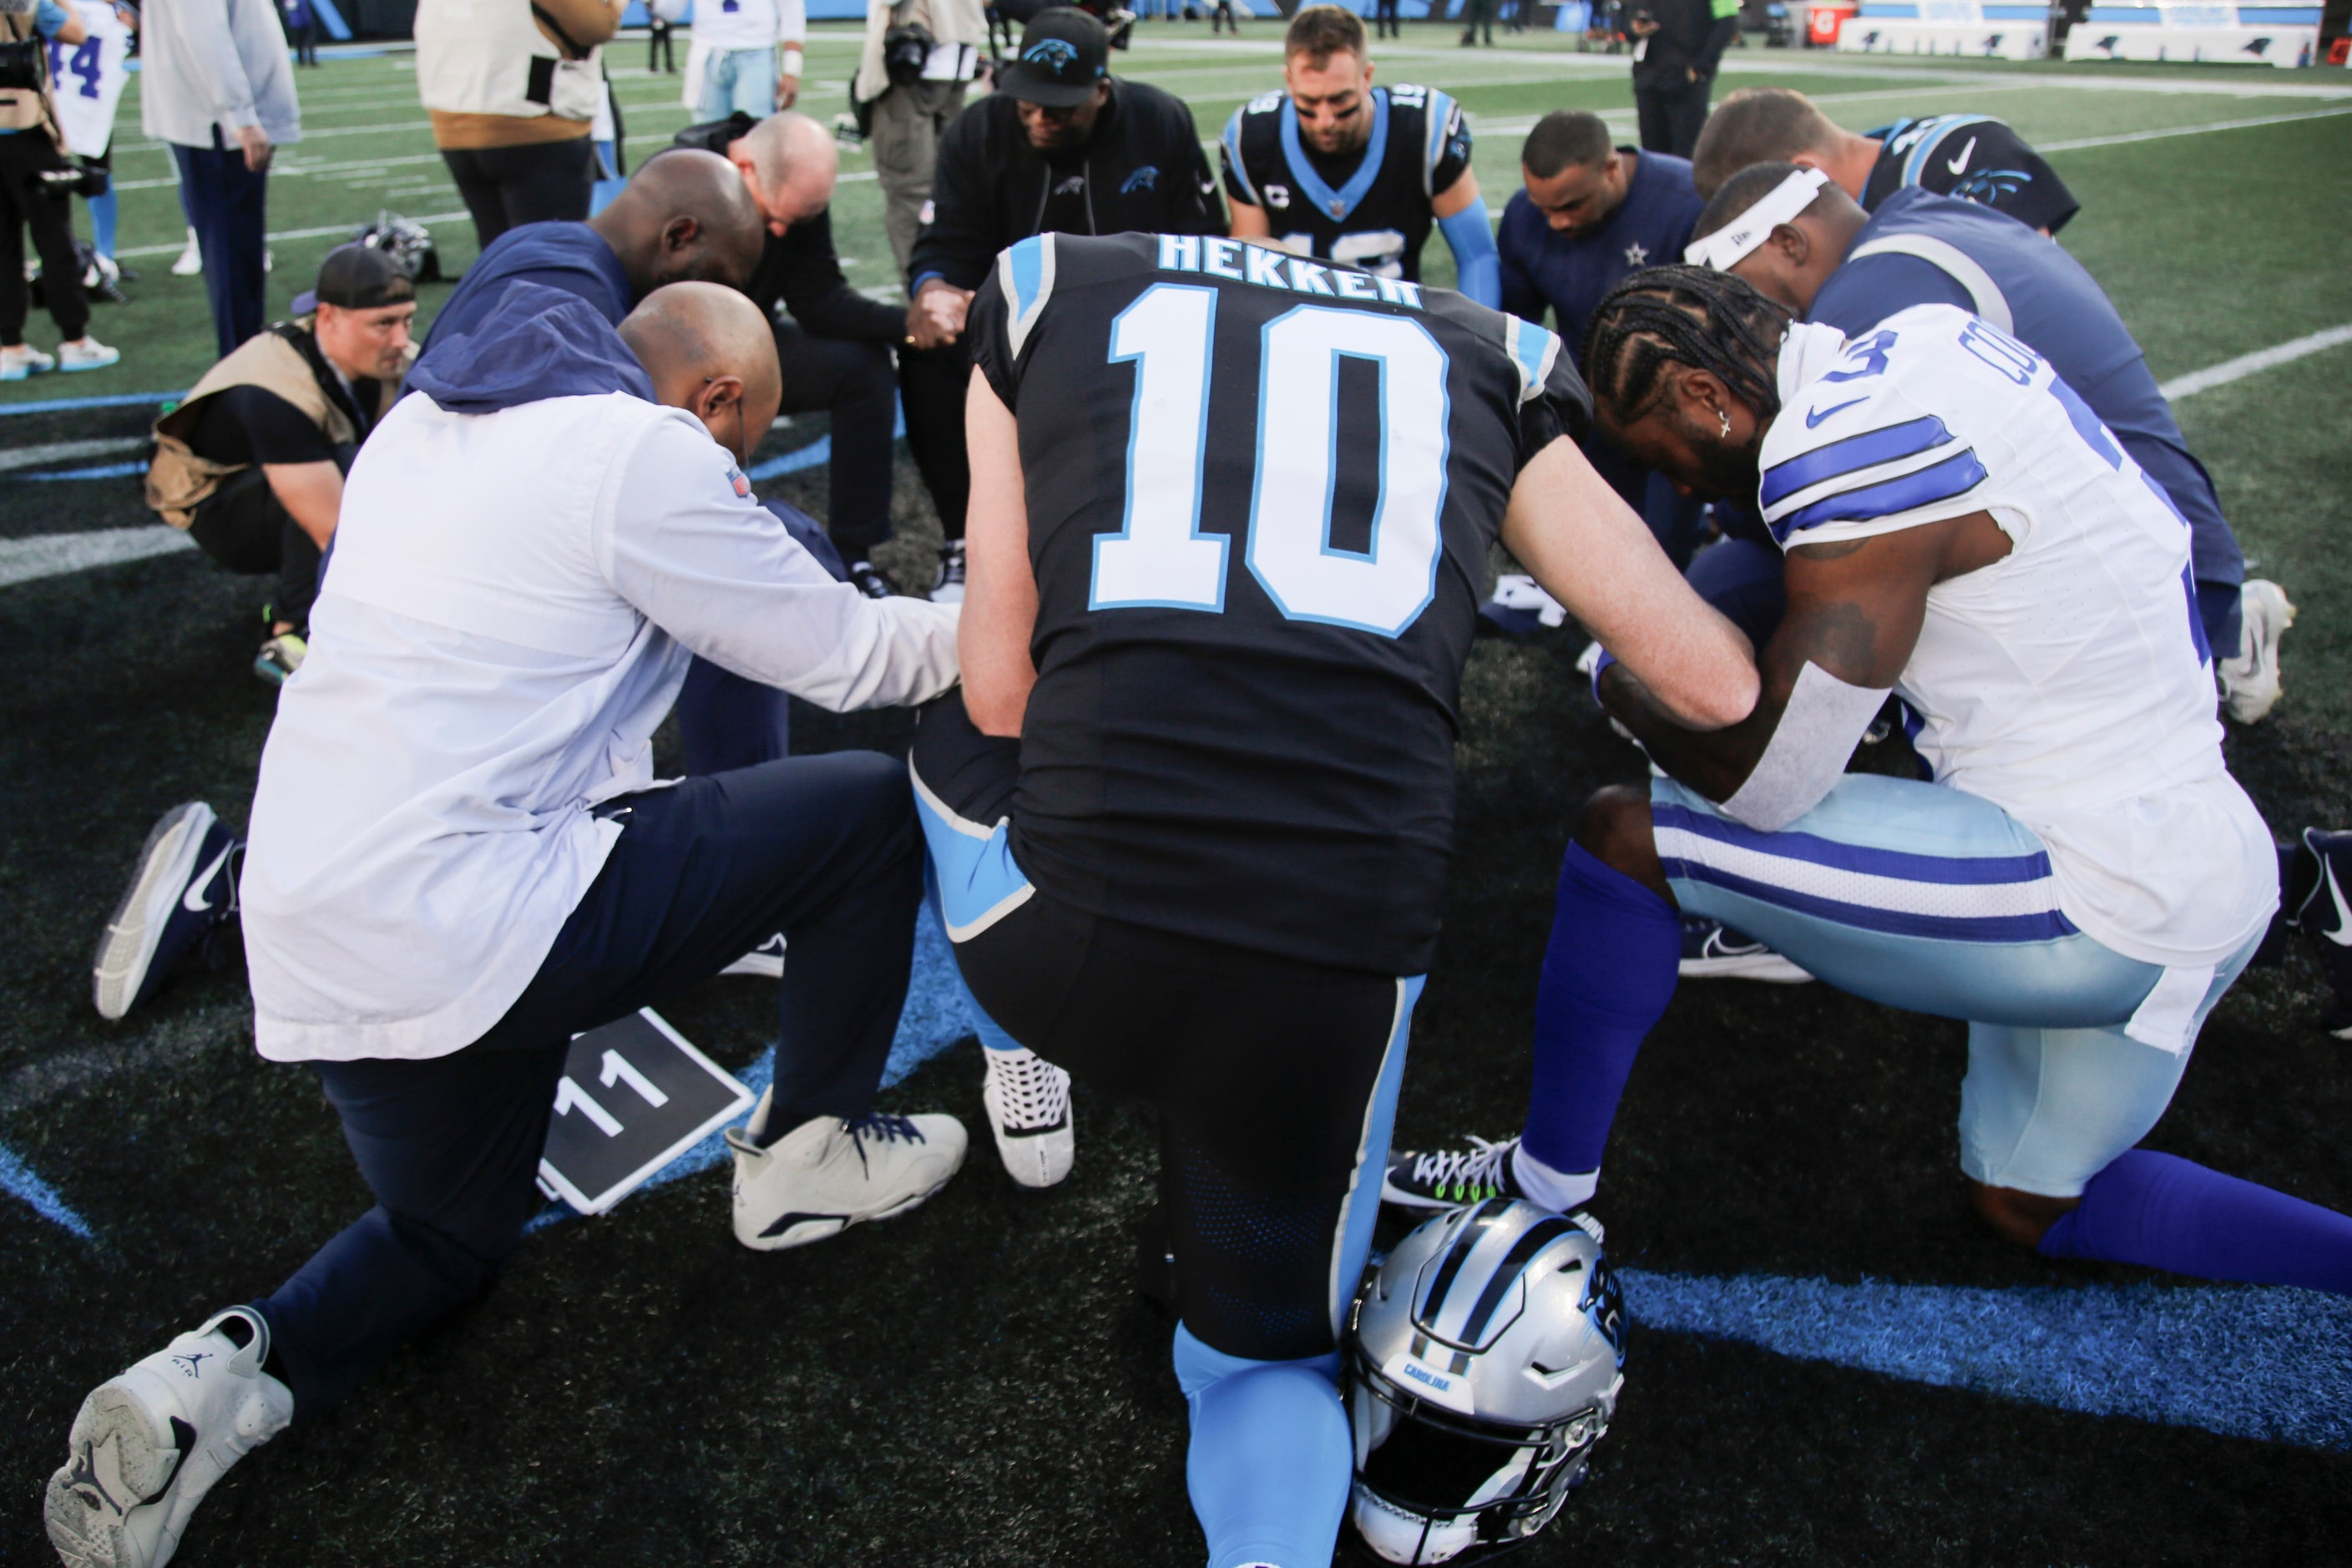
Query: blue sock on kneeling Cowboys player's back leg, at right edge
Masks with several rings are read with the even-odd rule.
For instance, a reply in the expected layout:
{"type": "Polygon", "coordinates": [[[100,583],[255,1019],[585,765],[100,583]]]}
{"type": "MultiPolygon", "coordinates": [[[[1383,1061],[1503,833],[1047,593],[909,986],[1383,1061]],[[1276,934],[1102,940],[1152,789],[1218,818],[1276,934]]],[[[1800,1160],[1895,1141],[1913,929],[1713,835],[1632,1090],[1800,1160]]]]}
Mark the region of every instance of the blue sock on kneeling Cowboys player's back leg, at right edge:
{"type": "Polygon", "coordinates": [[[2150,1150],[2093,1175],[2034,1251],[2352,1295],[2352,1218],[2150,1150]]]}

